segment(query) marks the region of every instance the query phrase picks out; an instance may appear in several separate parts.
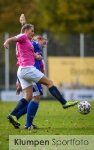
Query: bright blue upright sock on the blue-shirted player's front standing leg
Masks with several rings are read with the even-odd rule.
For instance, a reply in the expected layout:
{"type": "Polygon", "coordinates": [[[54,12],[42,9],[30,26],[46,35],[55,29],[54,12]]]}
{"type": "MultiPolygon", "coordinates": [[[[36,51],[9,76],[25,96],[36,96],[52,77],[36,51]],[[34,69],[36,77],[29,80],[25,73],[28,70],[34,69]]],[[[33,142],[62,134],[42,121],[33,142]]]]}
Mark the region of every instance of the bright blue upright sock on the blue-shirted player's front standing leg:
{"type": "Polygon", "coordinates": [[[36,115],[38,110],[39,103],[35,101],[30,101],[27,108],[27,120],[26,120],[26,127],[30,127],[32,125],[33,119],[36,115]]]}

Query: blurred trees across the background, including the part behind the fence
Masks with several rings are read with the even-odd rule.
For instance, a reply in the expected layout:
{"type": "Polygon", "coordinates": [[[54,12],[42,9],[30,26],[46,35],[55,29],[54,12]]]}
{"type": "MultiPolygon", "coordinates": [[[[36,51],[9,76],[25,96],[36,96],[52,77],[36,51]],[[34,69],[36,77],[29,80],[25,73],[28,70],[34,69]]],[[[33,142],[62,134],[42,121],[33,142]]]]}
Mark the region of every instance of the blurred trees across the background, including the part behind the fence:
{"type": "MultiPolygon", "coordinates": [[[[94,56],[94,0],[0,0],[0,88],[4,88],[5,82],[3,33],[9,32],[11,36],[20,32],[21,13],[35,25],[36,33],[48,33],[49,56],[79,56],[80,32],[93,33],[85,36],[85,55],[94,56]]],[[[10,49],[13,88],[16,81],[15,45],[10,49]]]]}

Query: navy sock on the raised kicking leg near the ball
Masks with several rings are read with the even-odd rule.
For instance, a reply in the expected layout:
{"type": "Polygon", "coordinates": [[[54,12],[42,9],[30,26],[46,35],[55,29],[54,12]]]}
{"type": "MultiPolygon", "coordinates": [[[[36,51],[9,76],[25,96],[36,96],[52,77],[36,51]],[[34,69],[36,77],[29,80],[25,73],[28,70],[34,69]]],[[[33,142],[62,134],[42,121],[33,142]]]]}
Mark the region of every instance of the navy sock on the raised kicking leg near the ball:
{"type": "Polygon", "coordinates": [[[63,98],[56,86],[49,88],[49,91],[62,105],[66,104],[67,101],[63,98]]]}

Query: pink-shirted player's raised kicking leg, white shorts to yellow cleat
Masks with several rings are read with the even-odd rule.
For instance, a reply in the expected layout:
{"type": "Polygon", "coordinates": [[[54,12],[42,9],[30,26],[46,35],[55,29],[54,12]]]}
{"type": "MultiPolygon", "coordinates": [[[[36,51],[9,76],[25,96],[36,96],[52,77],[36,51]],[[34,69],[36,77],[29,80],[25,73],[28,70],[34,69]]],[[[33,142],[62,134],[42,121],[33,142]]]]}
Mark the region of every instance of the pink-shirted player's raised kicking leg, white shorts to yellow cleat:
{"type": "Polygon", "coordinates": [[[63,105],[63,108],[68,108],[77,104],[77,101],[67,102],[56,86],[53,85],[53,82],[50,81],[42,72],[36,69],[34,66],[31,70],[28,70],[29,79],[35,81],[36,83],[44,84],[49,89],[49,92],[63,105]]]}

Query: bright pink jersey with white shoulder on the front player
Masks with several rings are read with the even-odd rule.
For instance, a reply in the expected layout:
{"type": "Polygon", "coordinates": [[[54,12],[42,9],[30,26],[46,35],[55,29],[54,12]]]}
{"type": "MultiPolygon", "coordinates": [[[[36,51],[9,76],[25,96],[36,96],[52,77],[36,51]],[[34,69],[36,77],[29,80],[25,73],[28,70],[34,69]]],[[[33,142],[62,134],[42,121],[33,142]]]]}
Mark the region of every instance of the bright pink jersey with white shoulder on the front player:
{"type": "Polygon", "coordinates": [[[34,47],[25,34],[16,36],[18,52],[20,54],[20,66],[33,66],[35,64],[34,47]]]}

